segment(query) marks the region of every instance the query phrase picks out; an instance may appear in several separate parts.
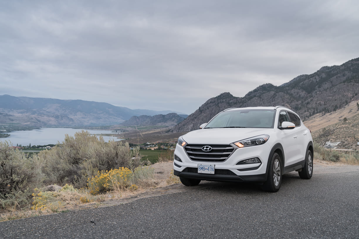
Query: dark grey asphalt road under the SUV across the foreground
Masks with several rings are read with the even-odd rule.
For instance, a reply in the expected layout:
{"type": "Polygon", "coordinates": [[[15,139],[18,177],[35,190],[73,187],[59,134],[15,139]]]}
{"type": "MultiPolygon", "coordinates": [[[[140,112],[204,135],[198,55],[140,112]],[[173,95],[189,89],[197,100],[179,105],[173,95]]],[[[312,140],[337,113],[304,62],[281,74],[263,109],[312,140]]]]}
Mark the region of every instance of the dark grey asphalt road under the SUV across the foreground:
{"type": "Polygon", "coordinates": [[[359,238],[358,167],[329,171],[311,180],[286,174],[277,193],[202,182],[123,205],[6,221],[0,238],[359,238]]]}

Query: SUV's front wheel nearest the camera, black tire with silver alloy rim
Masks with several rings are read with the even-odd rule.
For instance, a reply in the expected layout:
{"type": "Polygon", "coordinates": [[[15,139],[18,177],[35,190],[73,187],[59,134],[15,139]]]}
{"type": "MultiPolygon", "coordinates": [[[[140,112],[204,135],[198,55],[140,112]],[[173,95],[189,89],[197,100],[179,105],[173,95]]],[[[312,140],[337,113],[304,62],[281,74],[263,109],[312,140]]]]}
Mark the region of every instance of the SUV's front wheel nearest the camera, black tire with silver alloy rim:
{"type": "Polygon", "coordinates": [[[270,159],[267,181],[262,189],[267,192],[277,192],[282,184],[283,163],[278,153],[274,153],[270,159]]]}

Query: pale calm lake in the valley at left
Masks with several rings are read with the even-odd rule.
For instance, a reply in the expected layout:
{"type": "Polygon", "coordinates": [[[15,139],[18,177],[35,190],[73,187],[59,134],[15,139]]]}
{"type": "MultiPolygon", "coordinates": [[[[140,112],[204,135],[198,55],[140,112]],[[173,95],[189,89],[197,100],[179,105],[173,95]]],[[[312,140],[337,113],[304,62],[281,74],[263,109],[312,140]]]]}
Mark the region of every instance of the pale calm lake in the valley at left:
{"type": "MultiPolygon", "coordinates": [[[[62,142],[65,139],[65,134],[74,136],[76,132],[80,132],[82,129],[69,129],[69,128],[42,128],[28,131],[13,131],[8,138],[0,138],[0,141],[10,141],[12,145],[46,145],[57,144],[57,141],[62,142]]],[[[87,130],[90,134],[116,134],[111,133],[111,130],[87,130]]],[[[120,137],[121,133],[118,135],[120,137]]],[[[113,139],[119,141],[117,137],[103,136],[105,142],[113,139]]]]}

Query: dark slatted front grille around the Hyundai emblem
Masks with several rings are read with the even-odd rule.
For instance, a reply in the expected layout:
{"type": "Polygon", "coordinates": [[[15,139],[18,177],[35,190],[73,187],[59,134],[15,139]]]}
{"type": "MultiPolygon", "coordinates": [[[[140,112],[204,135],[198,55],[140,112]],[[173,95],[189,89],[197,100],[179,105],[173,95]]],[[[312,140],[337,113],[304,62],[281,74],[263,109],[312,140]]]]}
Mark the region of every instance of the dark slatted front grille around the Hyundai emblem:
{"type": "Polygon", "coordinates": [[[187,144],[185,150],[192,161],[224,162],[233,152],[234,148],[230,145],[219,144],[187,144]],[[212,150],[205,152],[202,150],[204,146],[210,146],[212,150]]]}

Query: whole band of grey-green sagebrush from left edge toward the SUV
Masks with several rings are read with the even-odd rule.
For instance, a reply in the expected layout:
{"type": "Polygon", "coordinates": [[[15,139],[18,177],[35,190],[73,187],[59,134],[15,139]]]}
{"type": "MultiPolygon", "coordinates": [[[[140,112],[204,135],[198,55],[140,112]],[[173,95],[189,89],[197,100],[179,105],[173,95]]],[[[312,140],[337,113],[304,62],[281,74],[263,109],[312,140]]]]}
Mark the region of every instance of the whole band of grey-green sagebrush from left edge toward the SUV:
{"type": "MultiPolygon", "coordinates": [[[[141,160],[138,147],[131,150],[128,143],[105,142],[101,136],[97,138],[84,130],[75,133],[74,137],[65,135],[65,140],[51,150],[42,150],[31,157],[14,150],[8,142],[0,142],[0,209],[30,207],[32,194],[39,193],[34,188],[40,188],[41,192],[46,185],[67,183],[74,188],[86,189],[88,179],[99,172],[127,168],[132,174],[139,174],[146,164],[150,163],[141,160]]],[[[145,185],[153,181],[150,174],[147,175],[150,179],[144,182],[141,177],[133,177],[136,178],[134,186],[126,187],[134,189],[136,183],[145,185]]]]}

